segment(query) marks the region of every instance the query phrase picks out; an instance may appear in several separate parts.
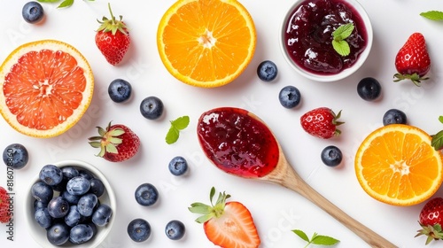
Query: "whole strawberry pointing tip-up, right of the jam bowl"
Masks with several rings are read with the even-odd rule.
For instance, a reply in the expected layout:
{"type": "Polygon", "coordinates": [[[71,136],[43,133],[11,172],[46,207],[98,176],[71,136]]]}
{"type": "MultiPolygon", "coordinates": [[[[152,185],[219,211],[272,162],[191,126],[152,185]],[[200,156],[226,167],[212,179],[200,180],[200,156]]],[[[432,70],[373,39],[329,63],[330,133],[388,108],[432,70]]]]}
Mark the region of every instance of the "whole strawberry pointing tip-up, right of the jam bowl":
{"type": "Polygon", "coordinates": [[[428,79],[424,75],[431,68],[431,59],[422,34],[409,36],[395,57],[395,68],[398,73],[393,75],[396,78],[394,81],[409,79],[420,86],[420,81],[428,79]]]}

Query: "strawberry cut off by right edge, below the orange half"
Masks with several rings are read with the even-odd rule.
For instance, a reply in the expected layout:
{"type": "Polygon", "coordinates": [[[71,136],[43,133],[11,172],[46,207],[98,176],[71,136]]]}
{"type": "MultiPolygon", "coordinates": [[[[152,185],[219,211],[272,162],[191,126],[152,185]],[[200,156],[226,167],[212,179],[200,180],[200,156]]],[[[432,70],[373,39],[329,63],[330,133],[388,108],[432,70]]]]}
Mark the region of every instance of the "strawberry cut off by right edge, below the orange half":
{"type": "Polygon", "coordinates": [[[419,221],[422,229],[416,236],[427,236],[426,244],[432,240],[443,239],[443,198],[432,198],[420,211],[419,221]]]}

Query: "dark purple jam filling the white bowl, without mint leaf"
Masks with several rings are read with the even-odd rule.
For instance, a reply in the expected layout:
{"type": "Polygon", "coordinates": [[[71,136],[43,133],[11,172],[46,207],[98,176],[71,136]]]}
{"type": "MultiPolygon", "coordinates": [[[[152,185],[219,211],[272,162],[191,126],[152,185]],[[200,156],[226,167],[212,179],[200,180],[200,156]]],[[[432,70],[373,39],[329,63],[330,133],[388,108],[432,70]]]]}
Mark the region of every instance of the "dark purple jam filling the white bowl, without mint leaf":
{"type": "Polygon", "coordinates": [[[291,59],[313,74],[338,74],[354,65],[367,46],[367,31],[358,12],[344,0],[307,0],[289,16],[284,41],[291,59]],[[332,32],[354,23],[346,38],[351,52],[343,57],[332,47],[332,32]]]}

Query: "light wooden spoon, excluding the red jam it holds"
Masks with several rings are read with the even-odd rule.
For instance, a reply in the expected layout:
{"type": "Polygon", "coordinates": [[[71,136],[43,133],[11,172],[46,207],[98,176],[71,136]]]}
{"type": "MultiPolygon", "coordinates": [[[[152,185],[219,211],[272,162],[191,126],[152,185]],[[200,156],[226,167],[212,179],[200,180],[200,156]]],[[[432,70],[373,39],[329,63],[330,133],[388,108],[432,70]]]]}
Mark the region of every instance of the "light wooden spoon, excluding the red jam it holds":
{"type": "MultiPolygon", "coordinates": [[[[219,110],[222,111],[227,109],[232,109],[234,110],[234,112],[236,112],[236,114],[240,115],[246,113],[247,116],[253,118],[253,120],[258,120],[260,123],[264,125],[265,128],[268,128],[268,125],[263,120],[260,120],[260,118],[257,117],[252,112],[247,112],[242,109],[229,108],[229,107],[215,109],[214,111],[217,112],[219,110]]],[[[205,113],[200,118],[200,121],[203,119],[204,116],[205,113]]],[[[270,128],[268,128],[268,131],[274,137],[274,139],[276,140],[276,144],[278,146],[279,157],[276,167],[273,170],[271,170],[268,174],[262,177],[248,177],[241,174],[235,174],[235,175],[240,177],[245,177],[248,179],[253,178],[265,182],[274,182],[276,184],[284,186],[287,189],[299,193],[299,195],[301,195],[304,198],[307,198],[312,203],[322,208],[326,213],[329,213],[336,220],[340,221],[348,229],[351,229],[357,236],[360,236],[361,239],[363,239],[371,247],[381,247],[381,248],[397,247],[396,245],[386,240],[384,237],[379,236],[376,232],[372,231],[371,229],[361,224],[359,221],[355,221],[351,216],[347,215],[345,212],[339,209],[338,206],[333,205],[328,199],[324,198],[320,193],[318,193],[311,186],[309,186],[307,182],[305,182],[299,176],[299,174],[297,174],[297,172],[293,169],[293,167],[291,167],[291,165],[288,163],[288,161],[284,156],[284,152],[282,151],[282,148],[276,139],[276,136],[274,136],[272,131],[270,131],[270,128]]],[[[206,153],[206,155],[208,154],[206,153]]],[[[213,159],[211,159],[211,161],[215,164],[213,159]]],[[[216,166],[220,167],[220,165],[216,166]]]]}

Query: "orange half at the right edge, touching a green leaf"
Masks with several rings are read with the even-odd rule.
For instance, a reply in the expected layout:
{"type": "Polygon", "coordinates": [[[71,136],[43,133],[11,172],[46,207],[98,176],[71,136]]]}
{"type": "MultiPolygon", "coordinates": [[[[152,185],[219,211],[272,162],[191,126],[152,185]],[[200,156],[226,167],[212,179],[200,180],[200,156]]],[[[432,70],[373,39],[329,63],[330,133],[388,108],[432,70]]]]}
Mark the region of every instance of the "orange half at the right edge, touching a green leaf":
{"type": "Polygon", "coordinates": [[[369,196],[390,205],[416,205],[439,190],[442,158],[431,136],[402,124],[378,128],[361,143],[355,174],[369,196]]]}

